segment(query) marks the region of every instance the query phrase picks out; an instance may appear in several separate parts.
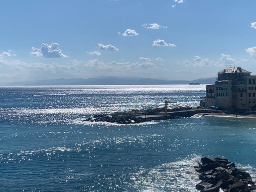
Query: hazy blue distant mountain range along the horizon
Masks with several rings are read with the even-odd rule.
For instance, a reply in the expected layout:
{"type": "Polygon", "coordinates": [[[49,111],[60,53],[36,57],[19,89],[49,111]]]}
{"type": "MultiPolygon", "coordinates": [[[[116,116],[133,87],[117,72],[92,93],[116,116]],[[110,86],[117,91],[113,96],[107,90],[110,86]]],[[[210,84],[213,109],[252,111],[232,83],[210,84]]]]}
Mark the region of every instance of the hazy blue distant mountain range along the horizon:
{"type": "MultiPolygon", "coordinates": [[[[206,79],[186,80],[160,80],[150,78],[124,78],[124,77],[98,77],[98,78],[72,78],[51,79],[37,82],[23,82],[19,85],[168,85],[168,84],[214,84],[216,77],[206,79]]],[[[13,84],[17,85],[17,84],[13,84]]]]}

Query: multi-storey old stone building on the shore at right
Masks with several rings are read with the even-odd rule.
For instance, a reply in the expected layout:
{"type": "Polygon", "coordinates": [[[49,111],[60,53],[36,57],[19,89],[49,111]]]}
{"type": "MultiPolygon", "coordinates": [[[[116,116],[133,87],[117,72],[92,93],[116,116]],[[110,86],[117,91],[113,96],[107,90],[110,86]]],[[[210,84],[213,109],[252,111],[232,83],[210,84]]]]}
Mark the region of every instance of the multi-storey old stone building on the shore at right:
{"type": "Polygon", "coordinates": [[[206,86],[205,106],[227,110],[256,110],[256,75],[241,67],[218,72],[217,81],[206,86]]]}

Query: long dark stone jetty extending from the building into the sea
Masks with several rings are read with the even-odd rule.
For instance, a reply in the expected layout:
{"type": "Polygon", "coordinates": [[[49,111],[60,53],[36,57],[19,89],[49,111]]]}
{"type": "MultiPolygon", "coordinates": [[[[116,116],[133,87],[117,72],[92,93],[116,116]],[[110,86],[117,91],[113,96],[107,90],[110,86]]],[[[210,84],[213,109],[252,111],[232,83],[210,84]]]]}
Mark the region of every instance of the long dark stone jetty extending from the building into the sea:
{"type": "Polygon", "coordinates": [[[197,108],[175,108],[169,109],[165,113],[164,108],[156,108],[149,110],[133,110],[129,112],[115,112],[106,114],[96,114],[89,117],[85,121],[91,122],[110,122],[118,124],[134,124],[152,120],[164,120],[181,117],[191,117],[197,113],[210,113],[209,109],[197,108]]]}

